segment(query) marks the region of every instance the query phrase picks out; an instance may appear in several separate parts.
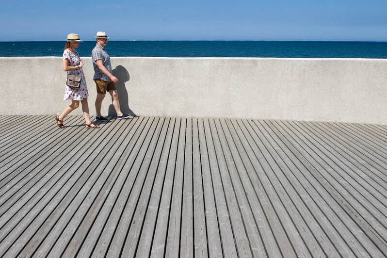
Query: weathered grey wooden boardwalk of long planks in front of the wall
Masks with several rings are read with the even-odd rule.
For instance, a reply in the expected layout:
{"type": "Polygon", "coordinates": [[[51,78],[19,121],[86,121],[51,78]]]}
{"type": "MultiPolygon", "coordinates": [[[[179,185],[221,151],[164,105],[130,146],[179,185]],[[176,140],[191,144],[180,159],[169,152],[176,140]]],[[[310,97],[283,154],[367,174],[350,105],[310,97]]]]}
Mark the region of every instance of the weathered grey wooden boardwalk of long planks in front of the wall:
{"type": "Polygon", "coordinates": [[[0,116],[0,256],[386,257],[387,127],[0,116]]]}

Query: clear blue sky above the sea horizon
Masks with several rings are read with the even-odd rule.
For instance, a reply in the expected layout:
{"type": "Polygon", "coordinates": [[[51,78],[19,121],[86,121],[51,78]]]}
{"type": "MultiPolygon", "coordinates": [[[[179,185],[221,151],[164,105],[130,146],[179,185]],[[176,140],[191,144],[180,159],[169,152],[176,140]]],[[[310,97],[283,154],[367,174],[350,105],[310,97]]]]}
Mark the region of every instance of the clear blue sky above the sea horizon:
{"type": "Polygon", "coordinates": [[[0,41],[387,41],[387,0],[0,0],[0,41]]]}

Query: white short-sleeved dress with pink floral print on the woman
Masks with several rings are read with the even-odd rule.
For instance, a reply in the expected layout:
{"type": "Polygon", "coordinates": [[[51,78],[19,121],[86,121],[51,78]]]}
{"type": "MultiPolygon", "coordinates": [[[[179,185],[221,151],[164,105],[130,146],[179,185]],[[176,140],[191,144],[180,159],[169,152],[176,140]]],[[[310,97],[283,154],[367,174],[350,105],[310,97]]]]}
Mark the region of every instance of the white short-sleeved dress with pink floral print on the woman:
{"type": "MultiPolygon", "coordinates": [[[[77,51],[76,51],[77,52],[77,51]]],[[[74,55],[73,52],[70,51],[70,49],[65,49],[63,52],[63,60],[67,59],[68,60],[68,65],[69,66],[77,66],[82,60],[78,55],[74,55]]],[[[78,76],[82,77],[82,82],[81,82],[81,88],[79,90],[73,90],[69,88],[66,85],[66,90],[64,92],[64,100],[67,99],[74,99],[74,100],[82,100],[85,97],[89,96],[89,92],[87,91],[87,86],[86,86],[86,78],[83,73],[82,67],[73,71],[68,71],[67,74],[75,74],[78,76]]]]}

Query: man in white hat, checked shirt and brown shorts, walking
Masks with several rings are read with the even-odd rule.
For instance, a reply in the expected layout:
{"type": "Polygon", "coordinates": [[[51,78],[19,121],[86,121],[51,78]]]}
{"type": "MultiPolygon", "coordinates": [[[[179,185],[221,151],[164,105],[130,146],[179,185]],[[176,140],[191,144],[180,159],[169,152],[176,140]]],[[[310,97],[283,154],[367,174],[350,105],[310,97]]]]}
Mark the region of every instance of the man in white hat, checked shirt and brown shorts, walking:
{"type": "Polygon", "coordinates": [[[110,56],[105,50],[109,37],[105,32],[97,32],[97,45],[91,52],[94,67],[94,81],[97,84],[97,99],[96,99],[96,119],[98,121],[108,121],[101,115],[102,100],[106,95],[106,91],[112,96],[113,107],[117,113],[117,119],[129,118],[129,114],[123,114],[118,101],[118,93],[114,82],[118,79],[112,74],[112,64],[110,56]]]}

